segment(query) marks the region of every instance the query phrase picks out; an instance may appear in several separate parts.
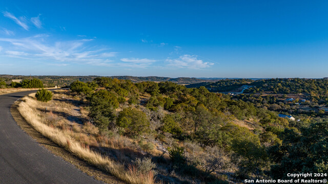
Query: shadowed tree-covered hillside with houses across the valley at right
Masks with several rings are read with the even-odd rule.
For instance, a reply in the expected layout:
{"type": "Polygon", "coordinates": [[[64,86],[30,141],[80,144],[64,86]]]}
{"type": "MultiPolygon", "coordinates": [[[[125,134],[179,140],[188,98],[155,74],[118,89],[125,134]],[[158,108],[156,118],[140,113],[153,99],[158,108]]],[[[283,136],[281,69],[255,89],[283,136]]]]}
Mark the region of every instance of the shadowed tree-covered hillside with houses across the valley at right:
{"type": "MultiPolygon", "coordinates": [[[[301,115],[307,117],[325,116],[324,106],[328,105],[327,79],[226,79],[215,83],[191,84],[191,86],[205,86],[210,91],[241,91],[235,94],[233,100],[242,100],[279,113],[301,115]],[[288,97],[289,96],[289,97],[288,97]],[[292,99],[294,98],[294,99],[292,99]],[[291,99],[291,100],[288,100],[291,99]]],[[[232,92],[234,93],[234,92],[232,92]]]]}

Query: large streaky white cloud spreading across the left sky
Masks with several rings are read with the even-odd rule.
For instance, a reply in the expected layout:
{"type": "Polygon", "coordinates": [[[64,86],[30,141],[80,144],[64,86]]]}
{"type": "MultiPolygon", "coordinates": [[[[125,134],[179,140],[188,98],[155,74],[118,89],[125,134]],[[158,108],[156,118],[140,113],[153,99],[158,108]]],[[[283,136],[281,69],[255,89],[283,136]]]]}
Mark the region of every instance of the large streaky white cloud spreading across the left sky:
{"type": "Polygon", "coordinates": [[[116,52],[105,52],[103,48],[89,48],[86,43],[93,39],[47,42],[48,35],[11,39],[0,38],[0,42],[12,45],[5,52],[6,57],[24,57],[24,59],[53,60],[55,62],[74,62],[91,65],[108,65],[116,52]]]}

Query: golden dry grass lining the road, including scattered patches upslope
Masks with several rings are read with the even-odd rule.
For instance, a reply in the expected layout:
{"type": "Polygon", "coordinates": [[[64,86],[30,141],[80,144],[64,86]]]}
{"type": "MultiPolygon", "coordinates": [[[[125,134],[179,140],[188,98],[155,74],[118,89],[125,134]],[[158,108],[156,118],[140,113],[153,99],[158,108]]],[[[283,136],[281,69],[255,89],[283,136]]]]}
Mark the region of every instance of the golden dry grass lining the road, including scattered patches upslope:
{"type": "MultiPolygon", "coordinates": [[[[48,103],[55,102],[50,101],[48,103]]],[[[59,112],[64,112],[67,114],[73,113],[67,107],[58,108],[56,104],[54,105],[56,110],[59,112]]],[[[31,94],[28,97],[23,98],[23,102],[19,104],[18,110],[26,119],[26,121],[29,122],[37,131],[39,131],[44,136],[48,137],[50,140],[60,145],[61,147],[66,148],[68,151],[78,156],[79,158],[86,160],[90,164],[95,165],[96,167],[104,171],[107,171],[108,173],[116,176],[117,178],[127,183],[155,183],[154,174],[152,173],[152,171],[149,172],[147,175],[143,175],[138,173],[133,166],[131,166],[129,169],[125,169],[124,165],[115,162],[109,157],[102,156],[98,152],[90,150],[89,145],[98,144],[97,140],[85,136],[85,134],[74,132],[73,129],[77,129],[79,131],[82,130],[78,125],[75,125],[75,127],[68,126],[68,123],[66,122],[67,120],[65,121],[63,119],[58,118],[58,116],[52,111],[42,112],[39,110],[47,109],[47,107],[47,103],[36,101],[34,99],[34,94],[31,94]],[[48,113],[48,120],[43,118],[45,116],[45,113],[48,113]],[[78,142],[78,140],[83,141],[83,143],[78,142]]],[[[91,124],[87,123],[85,125],[87,131],[95,132],[95,129],[92,128],[91,124]]],[[[101,136],[98,136],[98,140],[103,142],[110,142],[109,140],[106,140],[105,137],[101,136]]],[[[120,145],[121,144],[118,144],[116,146],[120,145]]]]}

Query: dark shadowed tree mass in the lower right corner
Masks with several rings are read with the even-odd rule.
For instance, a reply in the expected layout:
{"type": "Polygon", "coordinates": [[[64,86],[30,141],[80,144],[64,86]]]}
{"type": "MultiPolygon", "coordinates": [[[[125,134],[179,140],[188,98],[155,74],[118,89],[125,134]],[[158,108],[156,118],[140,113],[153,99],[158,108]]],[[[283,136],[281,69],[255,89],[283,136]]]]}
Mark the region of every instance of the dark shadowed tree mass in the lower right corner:
{"type": "MultiPolygon", "coordinates": [[[[313,173],[302,179],[325,179],[328,172],[328,121],[310,127],[285,129],[280,134],[282,144],[268,149],[272,162],[271,176],[290,179],[288,173],[313,173]],[[314,173],[324,175],[315,176],[314,173]]],[[[312,182],[308,182],[312,183],[312,182]]]]}

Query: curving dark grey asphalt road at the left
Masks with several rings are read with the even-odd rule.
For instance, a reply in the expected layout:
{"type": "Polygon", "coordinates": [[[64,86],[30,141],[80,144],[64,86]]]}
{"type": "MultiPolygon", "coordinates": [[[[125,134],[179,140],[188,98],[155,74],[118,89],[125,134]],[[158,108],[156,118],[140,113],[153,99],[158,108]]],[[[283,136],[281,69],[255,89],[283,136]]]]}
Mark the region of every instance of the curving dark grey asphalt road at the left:
{"type": "Polygon", "coordinates": [[[38,145],[18,127],[10,106],[30,93],[0,96],[0,183],[101,183],[38,145]]]}

